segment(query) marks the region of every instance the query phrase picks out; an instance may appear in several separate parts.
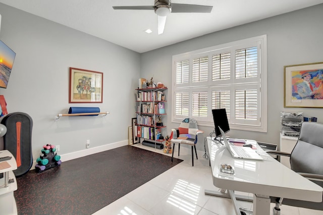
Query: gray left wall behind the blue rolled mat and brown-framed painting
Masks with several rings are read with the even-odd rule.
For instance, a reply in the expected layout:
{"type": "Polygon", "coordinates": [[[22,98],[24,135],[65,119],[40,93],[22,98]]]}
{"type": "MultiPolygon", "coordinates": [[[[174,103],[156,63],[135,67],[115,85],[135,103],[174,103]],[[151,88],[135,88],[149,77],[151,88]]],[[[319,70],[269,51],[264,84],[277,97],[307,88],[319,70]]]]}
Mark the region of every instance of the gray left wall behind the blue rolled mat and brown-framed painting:
{"type": "Polygon", "coordinates": [[[0,14],[0,39],[16,52],[8,88],[0,94],[9,113],[24,112],[33,119],[34,160],[45,144],[60,145],[60,155],[85,150],[86,139],[91,149],[128,144],[140,54],[4,4],[0,14]],[[69,67],[103,73],[103,103],[69,104],[69,67]],[[71,106],[99,107],[110,114],[54,120],[71,106]]]}

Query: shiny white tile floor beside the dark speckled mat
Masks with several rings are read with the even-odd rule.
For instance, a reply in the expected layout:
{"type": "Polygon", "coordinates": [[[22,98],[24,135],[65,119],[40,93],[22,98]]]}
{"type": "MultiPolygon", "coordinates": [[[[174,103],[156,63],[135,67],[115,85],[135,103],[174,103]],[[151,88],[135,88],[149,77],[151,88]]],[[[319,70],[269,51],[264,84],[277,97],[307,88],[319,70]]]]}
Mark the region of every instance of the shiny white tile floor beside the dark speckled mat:
{"type": "MultiPolygon", "coordinates": [[[[162,150],[142,145],[133,146],[163,153],[162,150]]],[[[177,149],[178,147],[175,149],[175,154],[178,153],[177,149]]],[[[203,158],[204,152],[198,151],[197,153],[198,160],[194,157],[194,167],[192,167],[191,151],[182,146],[180,156],[176,157],[184,160],[183,162],[93,214],[234,215],[231,199],[204,194],[205,189],[216,191],[220,189],[212,184],[211,168],[209,161],[203,158]]],[[[238,194],[252,196],[249,193],[238,194]]],[[[240,207],[252,209],[252,202],[238,201],[238,203],[240,207]]],[[[274,206],[272,203],[271,208],[274,206]]],[[[323,211],[320,210],[288,205],[282,205],[281,209],[281,215],[323,215],[323,211]]],[[[273,214],[272,211],[271,214],[273,214]]]]}

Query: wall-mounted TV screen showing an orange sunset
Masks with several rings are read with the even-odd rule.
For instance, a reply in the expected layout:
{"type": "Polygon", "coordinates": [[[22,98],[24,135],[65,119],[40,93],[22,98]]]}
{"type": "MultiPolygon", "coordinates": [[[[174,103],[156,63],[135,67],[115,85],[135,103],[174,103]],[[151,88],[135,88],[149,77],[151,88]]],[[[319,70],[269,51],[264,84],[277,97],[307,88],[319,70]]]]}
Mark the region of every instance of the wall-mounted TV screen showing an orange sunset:
{"type": "Polygon", "coordinates": [[[7,88],[16,53],[0,40],[0,88],[7,88]]]}

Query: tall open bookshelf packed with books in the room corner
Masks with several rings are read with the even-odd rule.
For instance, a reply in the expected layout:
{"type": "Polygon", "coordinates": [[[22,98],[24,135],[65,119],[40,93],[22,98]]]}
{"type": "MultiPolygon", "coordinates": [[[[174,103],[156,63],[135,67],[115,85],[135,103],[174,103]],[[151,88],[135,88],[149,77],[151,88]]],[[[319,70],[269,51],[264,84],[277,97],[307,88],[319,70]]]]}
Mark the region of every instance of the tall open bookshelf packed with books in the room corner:
{"type": "Polygon", "coordinates": [[[165,112],[165,90],[167,88],[141,88],[136,89],[136,103],[137,103],[137,137],[140,140],[147,140],[153,142],[155,145],[161,144],[165,141],[160,138],[162,129],[166,128],[163,124],[163,117],[165,112]]]}

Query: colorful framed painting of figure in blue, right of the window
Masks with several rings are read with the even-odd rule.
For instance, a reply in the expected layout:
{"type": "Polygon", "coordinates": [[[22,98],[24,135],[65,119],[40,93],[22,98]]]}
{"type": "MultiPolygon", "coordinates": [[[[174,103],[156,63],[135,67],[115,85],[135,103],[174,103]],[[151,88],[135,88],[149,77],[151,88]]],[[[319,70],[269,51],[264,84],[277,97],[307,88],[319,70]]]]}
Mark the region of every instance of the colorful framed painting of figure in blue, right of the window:
{"type": "Polygon", "coordinates": [[[284,107],[323,107],[323,62],[284,66],[284,107]]]}

